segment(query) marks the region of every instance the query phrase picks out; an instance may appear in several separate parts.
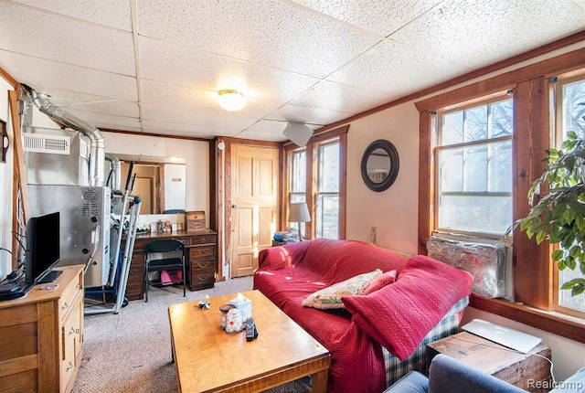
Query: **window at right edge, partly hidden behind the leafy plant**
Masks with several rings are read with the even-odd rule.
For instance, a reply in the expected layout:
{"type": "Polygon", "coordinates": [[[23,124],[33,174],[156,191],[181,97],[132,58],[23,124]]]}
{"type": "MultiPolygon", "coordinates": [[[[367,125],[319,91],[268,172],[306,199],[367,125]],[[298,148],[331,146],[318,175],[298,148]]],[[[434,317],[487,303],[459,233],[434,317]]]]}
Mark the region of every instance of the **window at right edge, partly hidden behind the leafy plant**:
{"type": "MultiPolygon", "coordinates": [[[[570,131],[585,137],[585,75],[559,79],[556,87],[558,98],[556,143],[559,148],[570,131]]],[[[582,278],[579,267],[572,271],[555,270],[555,306],[558,311],[585,316],[585,295],[571,296],[570,291],[561,290],[560,286],[572,279],[582,278]]]]}

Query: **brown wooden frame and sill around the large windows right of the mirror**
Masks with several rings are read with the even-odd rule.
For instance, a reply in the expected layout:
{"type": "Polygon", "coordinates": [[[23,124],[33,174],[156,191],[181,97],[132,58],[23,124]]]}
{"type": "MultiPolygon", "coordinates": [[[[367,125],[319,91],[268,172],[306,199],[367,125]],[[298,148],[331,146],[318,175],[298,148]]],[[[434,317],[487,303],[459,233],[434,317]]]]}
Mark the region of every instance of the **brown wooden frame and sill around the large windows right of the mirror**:
{"type": "MultiPolygon", "coordinates": [[[[415,102],[420,114],[418,241],[421,254],[426,254],[426,240],[431,236],[435,222],[432,154],[437,131],[432,126],[432,112],[504,90],[514,91],[513,219],[526,217],[529,210],[527,191],[542,174],[545,150],[551,143],[549,79],[582,69],[583,56],[585,49],[581,48],[415,102]]],[[[550,245],[543,242],[537,246],[534,240],[527,239],[526,234],[518,234],[515,233],[513,250],[516,302],[472,295],[471,305],[585,343],[585,320],[552,310],[554,264],[550,260],[550,245]]]]}

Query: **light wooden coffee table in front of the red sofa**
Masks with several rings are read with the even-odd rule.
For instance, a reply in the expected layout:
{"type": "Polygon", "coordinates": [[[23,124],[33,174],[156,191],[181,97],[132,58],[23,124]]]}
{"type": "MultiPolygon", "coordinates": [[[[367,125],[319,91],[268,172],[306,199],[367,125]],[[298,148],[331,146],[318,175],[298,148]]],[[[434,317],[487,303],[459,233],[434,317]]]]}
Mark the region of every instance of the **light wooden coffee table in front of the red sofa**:
{"type": "Polygon", "coordinates": [[[329,352],[259,291],[242,292],[252,302],[258,338],[226,333],[219,306],[236,294],[168,308],[181,392],[255,392],[312,376],[312,392],[326,392],[329,352]]]}

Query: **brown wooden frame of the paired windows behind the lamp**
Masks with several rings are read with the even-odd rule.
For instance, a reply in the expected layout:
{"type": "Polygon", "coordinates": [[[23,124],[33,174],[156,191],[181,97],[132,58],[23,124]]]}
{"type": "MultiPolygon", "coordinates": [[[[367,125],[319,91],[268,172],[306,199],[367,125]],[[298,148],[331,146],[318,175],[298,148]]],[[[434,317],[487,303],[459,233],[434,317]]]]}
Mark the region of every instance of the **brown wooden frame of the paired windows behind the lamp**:
{"type": "Polygon", "coordinates": [[[285,143],[284,149],[284,168],[283,173],[286,178],[283,183],[284,189],[283,195],[287,196],[282,198],[282,219],[281,227],[286,228],[288,225],[288,206],[289,197],[292,195],[291,192],[291,157],[294,152],[305,150],[305,157],[307,160],[306,164],[306,189],[305,189],[305,201],[309,212],[311,213],[312,220],[305,223],[304,227],[304,239],[315,239],[315,208],[316,208],[316,181],[318,173],[318,160],[316,152],[319,146],[331,143],[332,141],[338,140],[339,143],[339,228],[338,228],[338,239],[346,239],[346,163],[347,163],[347,132],[349,125],[345,125],[334,130],[325,131],[323,133],[315,133],[309,142],[304,147],[299,147],[294,143],[285,143]]]}

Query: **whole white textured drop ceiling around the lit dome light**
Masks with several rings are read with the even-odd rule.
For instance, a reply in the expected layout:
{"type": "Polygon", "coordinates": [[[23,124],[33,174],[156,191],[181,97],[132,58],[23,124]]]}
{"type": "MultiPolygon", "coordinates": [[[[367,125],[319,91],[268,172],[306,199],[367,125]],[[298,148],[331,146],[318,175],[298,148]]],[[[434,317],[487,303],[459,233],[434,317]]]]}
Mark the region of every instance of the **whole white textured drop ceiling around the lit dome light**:
{"type": "Polygon", "coordinates": [[[0,68],[101,129],[284,141],[584,28],[585,0],[0,0],[0,68]]]}

